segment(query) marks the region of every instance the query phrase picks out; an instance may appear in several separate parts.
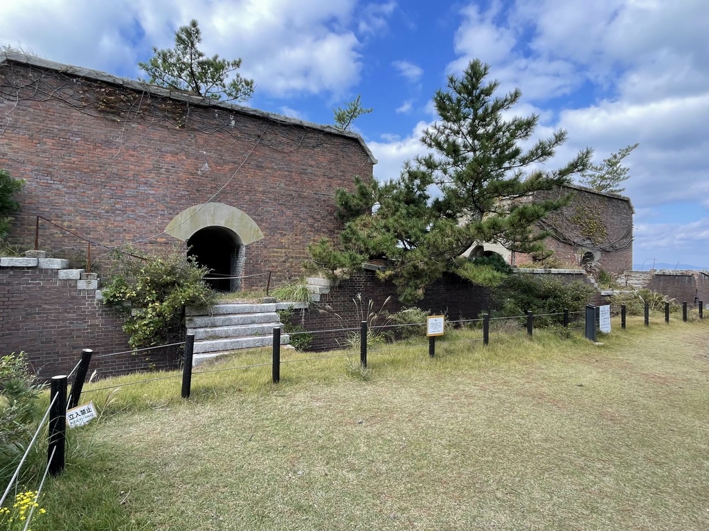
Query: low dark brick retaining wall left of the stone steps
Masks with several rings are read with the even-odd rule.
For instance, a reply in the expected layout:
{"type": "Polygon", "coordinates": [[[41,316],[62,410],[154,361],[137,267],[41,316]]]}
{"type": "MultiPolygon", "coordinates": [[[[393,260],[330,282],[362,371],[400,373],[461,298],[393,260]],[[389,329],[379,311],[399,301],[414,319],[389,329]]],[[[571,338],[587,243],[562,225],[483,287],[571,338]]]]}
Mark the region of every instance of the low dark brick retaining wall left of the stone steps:
{"type": "Polygon", "coordinates": [[[57,270],[0,268],[1,355],[24,350],[42,379],[68,374],[84,348],[94,350],[89,375],[177,367],[176,348],[100,358],[130,350],[122,322],[96,301],[96,290],[77,290],[77,281],[59,280],[57,270]]]}

